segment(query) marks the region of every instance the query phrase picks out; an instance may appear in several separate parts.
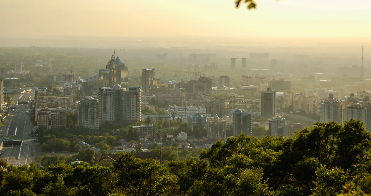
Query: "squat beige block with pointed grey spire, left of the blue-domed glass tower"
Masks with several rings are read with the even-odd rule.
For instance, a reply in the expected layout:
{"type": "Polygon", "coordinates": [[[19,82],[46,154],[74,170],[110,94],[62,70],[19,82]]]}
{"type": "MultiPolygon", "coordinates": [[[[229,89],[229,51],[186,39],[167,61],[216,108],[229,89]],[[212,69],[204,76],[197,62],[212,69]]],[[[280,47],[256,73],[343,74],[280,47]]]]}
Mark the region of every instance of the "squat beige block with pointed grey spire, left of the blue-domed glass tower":
{"type": "Polygon", "coordinates": [[[223,140],[226,138],[226,121],[221,120],[218,115],[207,121],[206,137],[210,140],[223,140]]]}

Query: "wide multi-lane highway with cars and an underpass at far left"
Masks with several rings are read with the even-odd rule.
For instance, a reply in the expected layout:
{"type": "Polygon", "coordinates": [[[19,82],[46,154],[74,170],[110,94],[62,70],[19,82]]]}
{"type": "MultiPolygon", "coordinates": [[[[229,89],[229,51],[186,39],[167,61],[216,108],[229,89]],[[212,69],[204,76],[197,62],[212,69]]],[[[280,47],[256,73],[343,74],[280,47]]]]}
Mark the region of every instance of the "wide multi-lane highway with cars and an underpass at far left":
{"type": "Polygon", "coordinates": [[[30,125],[30,114],[27,112],[31,107],[31,99],[35,97],[34,92],[26,92],[20,96],[14,97],[15,109],[11,117],[7,118],[4,122],[3,128],[1,128],[0,135],[4,135],[3,140],[22,140],[22,143],[11,142],[3,143],[2,154],[0,159],[6,160],[8,164],[14,165],[25,165],[30,163],[30,154],[32,151],[32,139],[30,138],[30,132],[32,126],[30,125]],[[28,104],[23,102],[28,102],[28,104]],[[9,139],[8,139],[9,138],[9,139]]]}

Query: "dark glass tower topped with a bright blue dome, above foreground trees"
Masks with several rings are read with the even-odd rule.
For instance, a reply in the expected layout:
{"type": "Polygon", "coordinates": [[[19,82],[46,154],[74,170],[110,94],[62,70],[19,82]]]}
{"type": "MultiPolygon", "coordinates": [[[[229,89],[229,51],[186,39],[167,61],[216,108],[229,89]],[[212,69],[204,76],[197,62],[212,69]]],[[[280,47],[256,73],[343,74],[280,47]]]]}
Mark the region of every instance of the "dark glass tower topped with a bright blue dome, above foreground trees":
{"type": "Polygon", "coordinates": [[[240,133],[252,135],[252,112],[242,112],[237,109],[232,114],[233,136],[237,137],[240,133]]]}

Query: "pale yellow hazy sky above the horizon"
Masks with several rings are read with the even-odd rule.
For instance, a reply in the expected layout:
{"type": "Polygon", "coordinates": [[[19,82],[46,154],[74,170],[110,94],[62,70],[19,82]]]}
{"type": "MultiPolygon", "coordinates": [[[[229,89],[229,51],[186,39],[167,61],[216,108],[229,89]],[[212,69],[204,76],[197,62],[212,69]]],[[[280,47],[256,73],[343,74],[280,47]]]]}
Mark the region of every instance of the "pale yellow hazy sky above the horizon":
{"type": "Polygon", "coordinates": [[[370,36],[370,0],[0,0],[0,34],[370,36]]]}

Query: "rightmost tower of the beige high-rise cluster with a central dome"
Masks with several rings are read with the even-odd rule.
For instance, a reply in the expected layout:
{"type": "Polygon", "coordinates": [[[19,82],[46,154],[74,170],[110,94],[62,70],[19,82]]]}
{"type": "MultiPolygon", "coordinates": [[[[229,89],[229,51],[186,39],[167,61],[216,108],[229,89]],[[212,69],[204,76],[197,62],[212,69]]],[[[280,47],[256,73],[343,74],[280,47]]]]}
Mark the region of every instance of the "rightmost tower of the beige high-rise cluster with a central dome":
{"type": "Polygon", "coordinates": [[[141,119],[141,88],[137,86],[129,86],[124,91],[122,98],[123,107],[123,122],[135,123],[141,119]]]}

